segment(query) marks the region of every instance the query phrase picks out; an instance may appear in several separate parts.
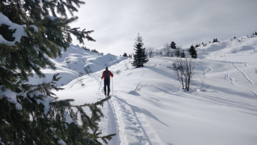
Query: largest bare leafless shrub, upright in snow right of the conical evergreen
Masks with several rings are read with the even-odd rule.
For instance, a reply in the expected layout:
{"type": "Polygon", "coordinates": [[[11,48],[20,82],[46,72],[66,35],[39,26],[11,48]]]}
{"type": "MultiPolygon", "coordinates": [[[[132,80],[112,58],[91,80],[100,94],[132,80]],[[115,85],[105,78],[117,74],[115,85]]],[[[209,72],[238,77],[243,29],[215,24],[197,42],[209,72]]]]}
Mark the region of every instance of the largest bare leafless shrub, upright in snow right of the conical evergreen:
{"type": "Polygon", "coordinates": [[[182,89],[189,91],[191,78],[195,74],[195,64],[192,58],[177,58],[172,65],[175,78],[182,84],[182,89]]]}

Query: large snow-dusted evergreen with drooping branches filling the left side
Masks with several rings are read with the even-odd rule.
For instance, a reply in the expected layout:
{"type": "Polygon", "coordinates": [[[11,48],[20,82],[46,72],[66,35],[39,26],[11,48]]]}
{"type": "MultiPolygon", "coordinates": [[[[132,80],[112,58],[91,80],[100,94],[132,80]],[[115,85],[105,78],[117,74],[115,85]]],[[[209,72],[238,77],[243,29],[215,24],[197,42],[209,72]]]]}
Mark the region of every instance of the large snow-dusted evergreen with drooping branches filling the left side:
{"type": "Polygon", "coordinates": [[[51,91],[61,90],[56,87],[58,74],[51,82],[29,84],[35,74],[45,77],[41,69],[56,69],[49,58],[62,56],[71,34],[82,44],[84,38],[95,41],[89,36],[93,31],[70,26],[78,19],[73,16],[77,12],[74,5],[82,4],[79,0],[0,1],[0,21],[7,21],[0,25],[5,39],[0,42],[0,144],[101,144],[99,139],[107,144],[112,139],[114,134],[100,136],[97,123],[103,117],[99,106],[110,98],[82,105],[72,105],[73,99],[58,100],[51,91]],[[92,111],[91,116],[83,107],[92,111]]]}

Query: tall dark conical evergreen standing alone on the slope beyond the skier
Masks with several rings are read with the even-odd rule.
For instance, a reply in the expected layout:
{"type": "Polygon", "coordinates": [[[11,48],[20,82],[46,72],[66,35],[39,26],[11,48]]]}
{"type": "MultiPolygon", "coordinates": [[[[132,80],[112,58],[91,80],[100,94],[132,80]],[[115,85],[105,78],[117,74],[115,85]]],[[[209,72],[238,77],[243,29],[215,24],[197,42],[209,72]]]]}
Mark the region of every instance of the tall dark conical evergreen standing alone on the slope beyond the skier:
{"type": "Polygon", "coordinates": [[[134,50],[136,54],[134,54],[134,61],[132,65],[136,68],[143,67],[145,63],[147,63],[148,58],[147,54],[145,54],[145,48],[143,47],[143,39],[142,36],[139,35],[136,38],[136,43],[134,43],[134,50]]]}

